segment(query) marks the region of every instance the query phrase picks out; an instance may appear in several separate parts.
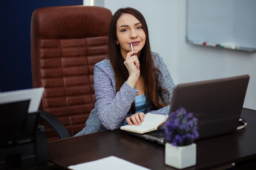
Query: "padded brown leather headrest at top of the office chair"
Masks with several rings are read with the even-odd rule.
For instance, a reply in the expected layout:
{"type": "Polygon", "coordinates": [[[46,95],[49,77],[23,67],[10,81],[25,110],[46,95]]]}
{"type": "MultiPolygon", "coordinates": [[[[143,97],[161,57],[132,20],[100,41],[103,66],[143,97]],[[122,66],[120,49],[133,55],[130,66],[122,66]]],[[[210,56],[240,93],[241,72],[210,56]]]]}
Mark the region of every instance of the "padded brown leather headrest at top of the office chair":
{"type": "Polygon", "coordinates": [[[111,18],[111,11],[103,7],[43,7],[33,12],[31,31],[37,30],[41,39],[108,36],[111,18]]]}

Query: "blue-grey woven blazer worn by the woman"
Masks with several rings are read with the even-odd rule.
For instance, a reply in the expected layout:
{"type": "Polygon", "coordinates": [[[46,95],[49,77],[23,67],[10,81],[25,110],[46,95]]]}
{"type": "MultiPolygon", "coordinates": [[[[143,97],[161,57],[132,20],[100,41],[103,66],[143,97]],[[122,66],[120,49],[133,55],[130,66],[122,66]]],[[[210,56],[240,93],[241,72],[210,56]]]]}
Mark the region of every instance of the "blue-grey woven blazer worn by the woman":
{"type": "MultiPolygon", "coordinates": [[[[159,70],[159,72],[155,72],[157,97],[168,106],[153,110],[152,106],[149,105],[144,113],[168,115],[175,84],[162,57],[153,52],[151,56],[153,67],[159,70]],[[162,91],[162,89],[166,89],[168,93],[162,91]]],[[[109,58],[95,64],[93,76],[96,97],[95,107],[85,122],[85,128],[76,136],[104,130],[115,130],[123,126],[126,117],[129,115],[130,106],[139,93],[136,87],[132,88],[127,82],[124,82],[117,92],[115,73],[109,58]]]]}

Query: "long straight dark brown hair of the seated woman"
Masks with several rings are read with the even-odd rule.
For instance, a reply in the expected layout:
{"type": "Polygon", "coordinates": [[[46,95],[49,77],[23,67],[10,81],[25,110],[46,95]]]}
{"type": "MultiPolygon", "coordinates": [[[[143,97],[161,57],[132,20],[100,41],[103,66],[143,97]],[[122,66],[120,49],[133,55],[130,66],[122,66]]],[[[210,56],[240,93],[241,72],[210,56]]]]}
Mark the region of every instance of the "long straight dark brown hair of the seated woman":
{"type": "MultiPolygon", "coordinates": [[[[124,58],[122,57],[120,52],[120,46],[119,44],[116,44],[117,20],[124,13],[130,13],[135,16],[135,18],[137,18],[137,20],[139,20],[139,22],[141,23],[142,28],[146,34],[145,45],[141,49],[139,54],[140,75],[144,78],[144,89],[147,102],[148,104],[151,104],[153,110],[157,110],[159,108],[167,106],[168,104],[161,104],[157,97],[156,79],[154,72],[159,72],[159,70],[153,67],[148,36],[148,26],[146,24],[144,16],[136,9],[130,7],[118,9],[112,16],[109,27],[108,50],[110,61],[115,72],[117,91],[120,90],[121,86],[129,77],[128,70],[124,65],[124,58]]],[[[135,113],[135,102],[132,103],[130,111],[132,111],[132,113],[135,113]]]]}

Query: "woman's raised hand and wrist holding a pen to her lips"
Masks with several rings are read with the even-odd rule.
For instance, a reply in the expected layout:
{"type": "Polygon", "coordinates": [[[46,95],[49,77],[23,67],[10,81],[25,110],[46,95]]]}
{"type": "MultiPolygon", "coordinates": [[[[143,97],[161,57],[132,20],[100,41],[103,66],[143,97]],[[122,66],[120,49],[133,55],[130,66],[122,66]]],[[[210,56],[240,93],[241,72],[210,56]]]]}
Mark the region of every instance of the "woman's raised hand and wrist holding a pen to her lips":
{"type": "Polygon", "coordinates": [[[139,78],[139,60],[137,57],[138,51],[130,51],[126,55],[126,60],[124,61],[124,65],[126,66],[129,77],[127,79],[127,83],[134,88],[138,78],[139,78]]]}

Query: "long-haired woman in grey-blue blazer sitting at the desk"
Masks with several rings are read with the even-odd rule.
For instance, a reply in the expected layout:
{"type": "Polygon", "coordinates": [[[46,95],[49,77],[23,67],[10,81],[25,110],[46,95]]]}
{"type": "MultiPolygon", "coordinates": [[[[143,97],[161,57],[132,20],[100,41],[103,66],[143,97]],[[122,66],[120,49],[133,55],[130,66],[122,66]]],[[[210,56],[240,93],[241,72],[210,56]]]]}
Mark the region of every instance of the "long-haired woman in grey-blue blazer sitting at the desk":
{"type": "Polygon", "coordinates": [[[147,113],[169,113],[175,85],[162,58],[150,51],[147,24],[139,11],[117,10],[108,48],[110,57],[94,66],[95,108],[76,136],[137,126],[147,113]]]}

